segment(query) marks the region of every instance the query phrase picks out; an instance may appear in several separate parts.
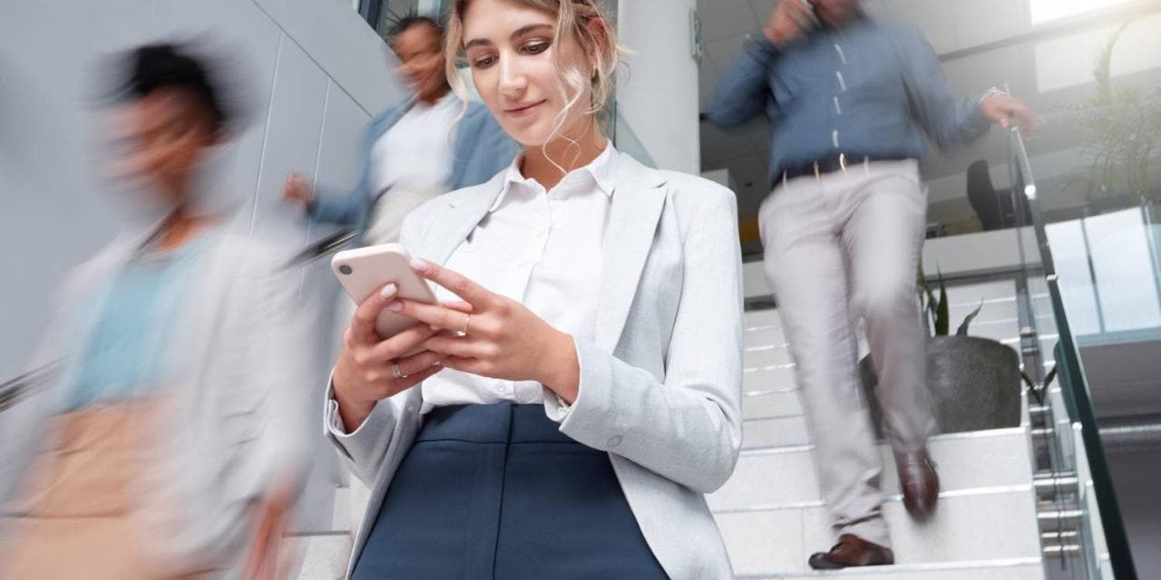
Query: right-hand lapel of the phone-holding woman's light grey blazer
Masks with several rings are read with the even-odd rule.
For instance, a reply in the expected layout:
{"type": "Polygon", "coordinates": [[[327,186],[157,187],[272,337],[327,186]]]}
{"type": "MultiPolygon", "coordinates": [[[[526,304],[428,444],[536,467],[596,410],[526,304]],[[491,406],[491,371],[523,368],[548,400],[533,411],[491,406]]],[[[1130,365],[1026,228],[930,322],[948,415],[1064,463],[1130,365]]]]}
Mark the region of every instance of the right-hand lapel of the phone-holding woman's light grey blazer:
{"type": "Polygon", "coordinates": [[[597,310],[597,346],[608,351],[620,341],[665,206],[664,174],[619,155],[597,310]]]}

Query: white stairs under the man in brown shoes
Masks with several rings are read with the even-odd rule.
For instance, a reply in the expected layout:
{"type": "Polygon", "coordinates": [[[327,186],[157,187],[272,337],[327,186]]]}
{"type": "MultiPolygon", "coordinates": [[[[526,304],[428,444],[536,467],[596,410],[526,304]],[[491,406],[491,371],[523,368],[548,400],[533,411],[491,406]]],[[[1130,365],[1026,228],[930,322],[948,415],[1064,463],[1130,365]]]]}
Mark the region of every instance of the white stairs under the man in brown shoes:
{"type": "Polygon", "coordinates": [[[1045,578],[1026,420],[1019,427],[930,441],[943,492],[935,517],[923,524],[903,509],[890,450],[880,445],[887,466],[884,516],[896,565],[812,571],[807,557],[829,549],[835,538],[819,493],[793,362],[777,311],[748,312],[745,326],[743,451],[733,478],[708,498],[738,578],[1045,578]]]}

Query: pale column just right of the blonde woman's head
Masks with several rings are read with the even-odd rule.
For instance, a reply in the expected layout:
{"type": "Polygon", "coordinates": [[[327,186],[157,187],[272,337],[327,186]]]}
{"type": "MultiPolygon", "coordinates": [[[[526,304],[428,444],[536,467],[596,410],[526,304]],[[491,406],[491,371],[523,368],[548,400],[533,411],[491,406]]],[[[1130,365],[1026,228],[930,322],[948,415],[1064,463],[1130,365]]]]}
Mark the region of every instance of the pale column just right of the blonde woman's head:
{"type": "Polygon", "coordinates": [[[616,102],[649,155],[663,169],[698,175],[698,65],[692,57],[690,10],[695,0],[620,2],[626,59],[616,102]]]}

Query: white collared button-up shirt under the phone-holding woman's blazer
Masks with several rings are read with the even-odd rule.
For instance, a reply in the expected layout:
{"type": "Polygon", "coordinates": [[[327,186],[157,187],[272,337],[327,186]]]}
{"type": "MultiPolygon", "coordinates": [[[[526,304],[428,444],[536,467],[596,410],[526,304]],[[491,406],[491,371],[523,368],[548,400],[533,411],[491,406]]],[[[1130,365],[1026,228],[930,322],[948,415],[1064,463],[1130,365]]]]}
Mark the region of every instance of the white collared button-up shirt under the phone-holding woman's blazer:
{"type": "MultiPolygon", "coordinates": [[[[569,172],[549,191],[520,174],[520,161],[517,158],[509,167],[496,203],[446,267],[522,303],[556,329],[591,341],[616,153],[606,145],[592,162],[569,172]]],[[[457,299],[442,288],[435,296],[457,299]]],[[[543,386],[533,380],[500,380],[454,369],[428,378],[421,389],[423,413],[447,405],[540,404],[545,397],[543,386]]]]}

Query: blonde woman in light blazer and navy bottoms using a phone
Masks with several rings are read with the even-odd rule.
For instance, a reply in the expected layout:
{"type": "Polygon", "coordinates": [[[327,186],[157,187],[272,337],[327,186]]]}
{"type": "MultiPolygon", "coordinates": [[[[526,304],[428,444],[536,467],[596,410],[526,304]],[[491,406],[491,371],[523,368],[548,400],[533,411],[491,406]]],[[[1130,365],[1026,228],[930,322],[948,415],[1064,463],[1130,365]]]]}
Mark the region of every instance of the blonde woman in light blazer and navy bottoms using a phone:
{"type": "Polygon", "coordinates": [[[601,133],[594,1],[457,0],[446,51],[524,152],[406,218],[441,302],[389,283],[346,331],[326,430],[373,486],[351,577],[730,578],[704,494],[742,440],[734,195],[601,133]],[[380,336],[384,309],[417,324],[380,336]]]}

